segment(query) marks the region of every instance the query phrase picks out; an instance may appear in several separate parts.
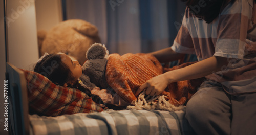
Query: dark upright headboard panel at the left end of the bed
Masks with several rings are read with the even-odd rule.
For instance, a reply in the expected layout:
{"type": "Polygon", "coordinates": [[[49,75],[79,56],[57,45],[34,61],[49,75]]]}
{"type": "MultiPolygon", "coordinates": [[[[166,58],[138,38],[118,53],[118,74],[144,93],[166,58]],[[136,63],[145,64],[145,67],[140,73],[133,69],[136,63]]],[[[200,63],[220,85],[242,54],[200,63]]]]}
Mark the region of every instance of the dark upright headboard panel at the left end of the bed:
{"type": "Polygon", "coordinates": [[[8,130],[9,134],[29,134],[29,109],[26,78],[22,71],[6,63],[8,80],[8,130]]]}

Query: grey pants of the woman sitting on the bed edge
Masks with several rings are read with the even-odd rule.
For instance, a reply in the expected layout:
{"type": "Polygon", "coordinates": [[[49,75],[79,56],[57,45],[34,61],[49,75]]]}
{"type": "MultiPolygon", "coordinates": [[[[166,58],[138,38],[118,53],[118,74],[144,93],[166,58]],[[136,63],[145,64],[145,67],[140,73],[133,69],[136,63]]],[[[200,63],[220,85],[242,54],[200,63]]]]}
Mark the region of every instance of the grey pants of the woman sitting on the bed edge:
{"type": "Polygon", "coordinates": [[[188,101],[186,118],[197,134],[256,134],[256,93],[229,95],[206,81],[188,101]]]}

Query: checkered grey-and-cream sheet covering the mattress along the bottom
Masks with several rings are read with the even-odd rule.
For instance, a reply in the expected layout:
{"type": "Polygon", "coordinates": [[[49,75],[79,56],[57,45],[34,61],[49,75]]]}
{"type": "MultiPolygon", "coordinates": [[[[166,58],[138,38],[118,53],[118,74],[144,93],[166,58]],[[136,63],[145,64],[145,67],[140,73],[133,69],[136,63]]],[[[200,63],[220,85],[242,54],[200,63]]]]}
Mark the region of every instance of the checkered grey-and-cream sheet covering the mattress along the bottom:
{"type": "Polygon", "coordinates": [[[104,110],[57,117],[29,115],[32,134],[194,134],[184,111],[104,110]]]}

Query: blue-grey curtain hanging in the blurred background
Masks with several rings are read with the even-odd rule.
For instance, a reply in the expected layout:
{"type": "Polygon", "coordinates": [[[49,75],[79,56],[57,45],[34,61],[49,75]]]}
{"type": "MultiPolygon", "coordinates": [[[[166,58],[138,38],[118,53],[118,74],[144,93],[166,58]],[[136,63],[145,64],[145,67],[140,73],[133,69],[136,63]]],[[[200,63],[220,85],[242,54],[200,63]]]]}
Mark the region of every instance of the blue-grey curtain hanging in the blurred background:
{"type": "Polygon", "coordinates": [[[110,53],[122,55],[172,46],[184,11],[180,0],[66,0],[65,18],[94,24],[110,53]]]}

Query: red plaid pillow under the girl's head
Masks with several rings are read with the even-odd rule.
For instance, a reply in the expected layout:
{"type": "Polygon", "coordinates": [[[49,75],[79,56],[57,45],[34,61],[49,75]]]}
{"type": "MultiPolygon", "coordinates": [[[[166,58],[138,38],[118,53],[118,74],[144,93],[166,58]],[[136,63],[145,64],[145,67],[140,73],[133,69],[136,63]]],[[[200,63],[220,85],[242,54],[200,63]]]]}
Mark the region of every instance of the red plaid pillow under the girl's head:
{"type": "Polygon", "coordinates": [[[59,116],[102,111],[99,104],[78,89],[62,87],[33,71],[25,73],[30,114],[59,116]]]}

